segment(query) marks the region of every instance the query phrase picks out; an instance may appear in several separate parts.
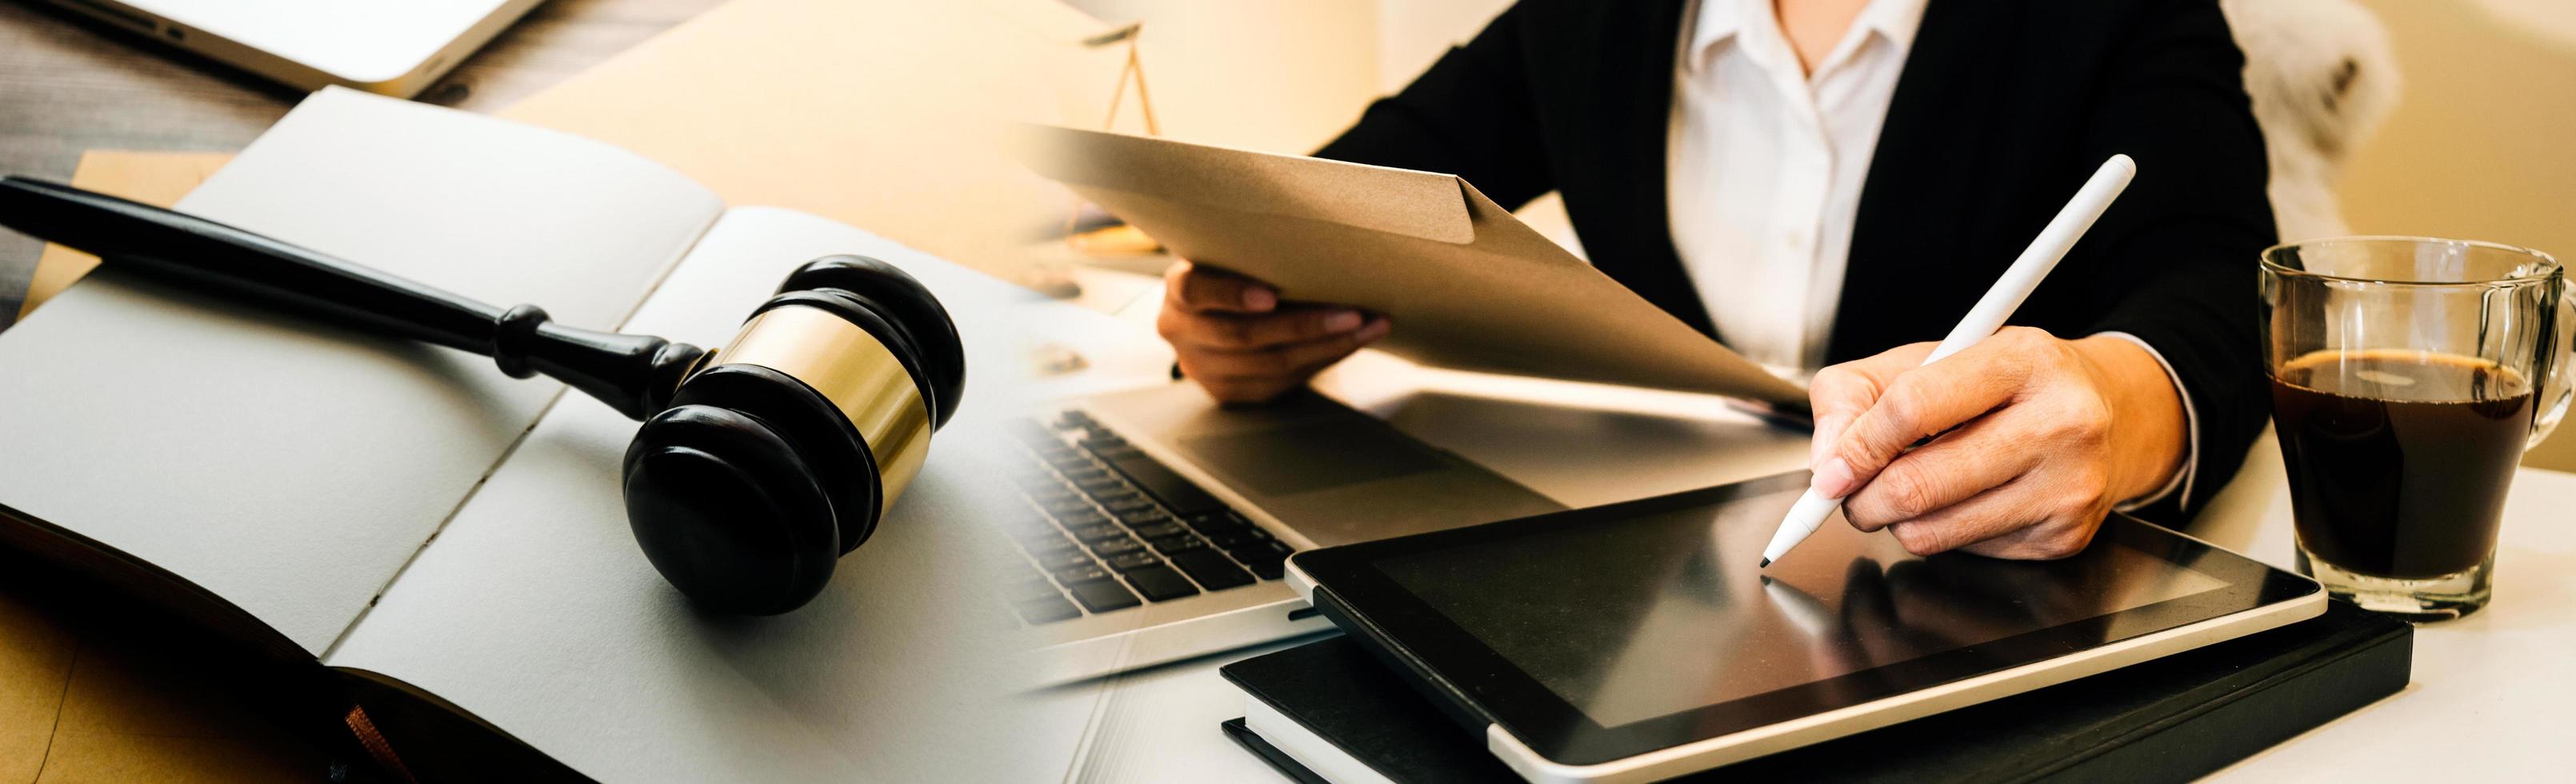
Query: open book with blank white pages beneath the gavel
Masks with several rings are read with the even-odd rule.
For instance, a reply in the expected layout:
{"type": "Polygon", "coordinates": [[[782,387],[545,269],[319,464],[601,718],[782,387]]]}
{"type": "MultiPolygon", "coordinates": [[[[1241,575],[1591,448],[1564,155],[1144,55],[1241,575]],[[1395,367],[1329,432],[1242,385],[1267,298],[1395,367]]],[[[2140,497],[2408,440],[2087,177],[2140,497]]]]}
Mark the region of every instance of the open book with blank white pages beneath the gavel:
{"type": "Polygon", "coordinates": [[[1030,294],[848,224],[726,209],[608,144],[353,90],[304,101],[180,209],[698,346],[793,266],[876,255],[956,315],[969,389],[824,596],[716,616],[636,549],[618,490],[636,426],[605,405],[111,260],[0,333],[0,544],[312,671],[397,756],[407,725],[464,725],[616,781],[1061,774],[1079,722],[994,709],[1015,619],[974,585],[1010,557],[981,521],[1012,495],[958,449],[1012,407],[1030,294]],[[994,753],[961,758],[958,738],[994,753]]]}

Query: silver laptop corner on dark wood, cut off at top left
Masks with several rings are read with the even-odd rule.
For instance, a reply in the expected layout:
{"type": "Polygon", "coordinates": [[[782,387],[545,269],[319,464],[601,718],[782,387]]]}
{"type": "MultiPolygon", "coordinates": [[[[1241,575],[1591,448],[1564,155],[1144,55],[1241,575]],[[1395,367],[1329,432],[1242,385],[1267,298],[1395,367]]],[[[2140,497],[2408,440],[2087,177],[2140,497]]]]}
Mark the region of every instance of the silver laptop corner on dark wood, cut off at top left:
{"type": "Polygon", "coordinates": [[[46,0],[294,85],[412,98],[538,0],[46,0]]]}

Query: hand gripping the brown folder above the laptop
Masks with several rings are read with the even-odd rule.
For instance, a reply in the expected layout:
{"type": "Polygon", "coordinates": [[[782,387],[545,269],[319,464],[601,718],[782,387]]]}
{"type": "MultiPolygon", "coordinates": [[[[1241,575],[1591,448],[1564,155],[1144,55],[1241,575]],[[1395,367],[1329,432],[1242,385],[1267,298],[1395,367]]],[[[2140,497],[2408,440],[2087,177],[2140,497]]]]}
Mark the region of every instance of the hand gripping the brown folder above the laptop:
{"type": "Polygon", "coordinates": [[[1180,371],[1221,402],[1280,397],[1388,330],[1383,315],[1285,304],[1262,281],[1188,260],[1164,271],[1162,284],[1154,330],[1172,343],[1180,371]]]}

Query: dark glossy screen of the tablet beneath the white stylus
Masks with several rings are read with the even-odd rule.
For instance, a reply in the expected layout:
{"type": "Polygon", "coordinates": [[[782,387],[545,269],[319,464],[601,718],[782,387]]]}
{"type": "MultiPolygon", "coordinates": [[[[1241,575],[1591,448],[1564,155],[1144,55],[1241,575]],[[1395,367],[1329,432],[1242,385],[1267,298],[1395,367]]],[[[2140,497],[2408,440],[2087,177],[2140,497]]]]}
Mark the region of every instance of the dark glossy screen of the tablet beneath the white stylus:
{"type": "Polygon", "coordinates": [[[1378,570],[1600,725],[2226,585],[2117,542],[2053,562],[1914,557],[1839,513],[1757,570],[1798,493],[1399,554],[1378,570]]]}

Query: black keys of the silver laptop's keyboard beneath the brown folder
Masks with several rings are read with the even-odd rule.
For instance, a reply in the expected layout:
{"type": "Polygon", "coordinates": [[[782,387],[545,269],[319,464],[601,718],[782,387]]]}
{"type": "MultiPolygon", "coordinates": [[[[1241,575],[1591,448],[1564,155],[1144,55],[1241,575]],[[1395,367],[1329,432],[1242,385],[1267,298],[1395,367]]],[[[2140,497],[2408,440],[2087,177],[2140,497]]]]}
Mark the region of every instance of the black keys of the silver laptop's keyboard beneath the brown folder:
{"type": "Polygon", "coordinates": [[[1278,580],[1288,544],[1079,410],[1012,423],[1010,482],[1030,513],[1002,529],[1028,554],[1010,588],[1030,624],[1278,580]]]}

